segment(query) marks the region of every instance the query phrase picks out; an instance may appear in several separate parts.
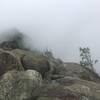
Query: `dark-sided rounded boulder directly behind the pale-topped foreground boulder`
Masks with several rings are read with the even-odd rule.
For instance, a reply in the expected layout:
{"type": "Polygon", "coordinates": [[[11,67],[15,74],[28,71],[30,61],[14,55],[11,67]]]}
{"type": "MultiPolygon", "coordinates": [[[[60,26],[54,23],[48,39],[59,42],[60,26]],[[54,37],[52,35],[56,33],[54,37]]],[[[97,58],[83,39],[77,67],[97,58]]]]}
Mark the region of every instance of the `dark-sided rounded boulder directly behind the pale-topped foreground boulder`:
{"type": "Polygon", "coordinates": [[[45,58],[24,56],[21,59],[21,62],[25,70],[36,70],[39,73],[41,73],[43,78],[46,76],[46,73],[50,70],[49,62],[45,58]]]}

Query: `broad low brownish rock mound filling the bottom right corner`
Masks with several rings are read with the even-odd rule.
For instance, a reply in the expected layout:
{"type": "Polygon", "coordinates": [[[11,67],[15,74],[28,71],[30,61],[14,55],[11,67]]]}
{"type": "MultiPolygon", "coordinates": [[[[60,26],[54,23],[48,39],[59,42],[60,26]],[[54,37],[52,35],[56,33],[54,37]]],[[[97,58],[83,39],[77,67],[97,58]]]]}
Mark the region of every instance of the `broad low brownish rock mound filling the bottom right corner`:
{"type": "Polygon", "coordinates": [[[100,100],[100,85],[80,78],[54,80],[40,89],[37,100],[100,100]]]}

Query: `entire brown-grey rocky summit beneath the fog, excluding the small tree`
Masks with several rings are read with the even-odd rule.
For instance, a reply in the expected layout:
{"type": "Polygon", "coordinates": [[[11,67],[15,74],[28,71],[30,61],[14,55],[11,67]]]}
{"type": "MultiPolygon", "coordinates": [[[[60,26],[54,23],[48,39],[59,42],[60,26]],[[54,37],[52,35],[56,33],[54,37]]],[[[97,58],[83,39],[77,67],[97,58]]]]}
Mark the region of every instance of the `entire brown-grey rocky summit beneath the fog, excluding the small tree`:
{"type": "Polygon", "coordinates": [[[26,49],[17,33],[0,43],[0,100],[100,100],[100,76],[49,51],[26,49]]]}

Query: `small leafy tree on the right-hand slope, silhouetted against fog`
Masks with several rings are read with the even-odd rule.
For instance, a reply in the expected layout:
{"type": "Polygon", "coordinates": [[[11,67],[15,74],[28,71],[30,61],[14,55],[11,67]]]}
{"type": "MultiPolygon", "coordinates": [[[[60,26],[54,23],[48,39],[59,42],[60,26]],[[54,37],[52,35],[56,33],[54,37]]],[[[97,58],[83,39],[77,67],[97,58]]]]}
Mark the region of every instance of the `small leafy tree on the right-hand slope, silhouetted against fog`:
{"type": "Polygon", "coordinates": [[[98,62],[98,60],[92,59],[90,49],[88,47],[87,48],[80,47],[80,57],[81,57],[80,65],[94,71],[93,66],[98,62]]]}

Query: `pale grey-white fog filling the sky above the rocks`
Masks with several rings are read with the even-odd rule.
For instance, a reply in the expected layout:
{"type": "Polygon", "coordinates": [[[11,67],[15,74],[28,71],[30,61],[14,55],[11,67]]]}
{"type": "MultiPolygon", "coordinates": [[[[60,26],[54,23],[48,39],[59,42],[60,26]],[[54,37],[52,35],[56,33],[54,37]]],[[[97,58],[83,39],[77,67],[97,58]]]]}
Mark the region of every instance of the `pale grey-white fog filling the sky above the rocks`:
{"type": "Polygon", "coordinates": [[[32,48],[66,62],[79,62],[80,46],[100,61],[100,0],[0,0],[0,33],[12,28],[26,34],[32,48]]]}

